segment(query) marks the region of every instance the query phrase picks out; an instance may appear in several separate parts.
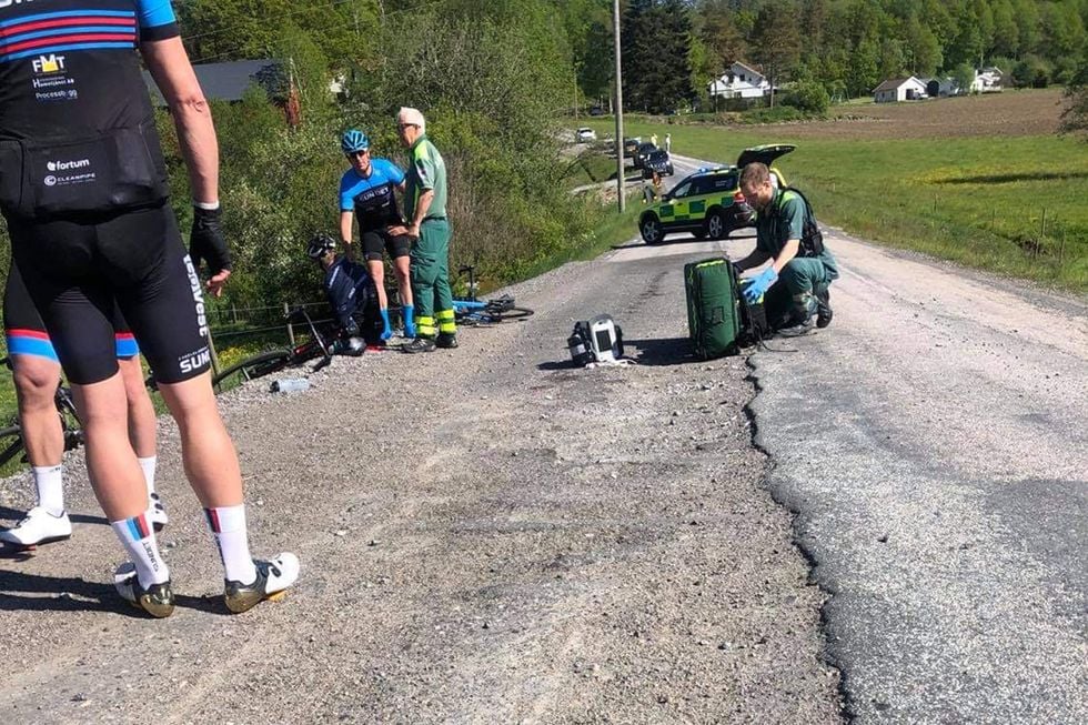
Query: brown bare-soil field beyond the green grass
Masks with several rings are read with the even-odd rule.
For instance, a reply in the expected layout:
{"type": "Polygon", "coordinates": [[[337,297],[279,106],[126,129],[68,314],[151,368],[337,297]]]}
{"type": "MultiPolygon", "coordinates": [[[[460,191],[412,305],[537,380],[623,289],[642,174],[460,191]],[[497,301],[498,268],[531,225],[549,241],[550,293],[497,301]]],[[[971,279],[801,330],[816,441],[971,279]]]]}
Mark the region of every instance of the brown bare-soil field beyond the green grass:
{"type": "Polygon", "coordinates": [[[840,105],[835,119],[774,123],[792,138],[929,139],[1056,133],[1065,108],[1061,89],[1006,91],[910,103],[840,105]]]}

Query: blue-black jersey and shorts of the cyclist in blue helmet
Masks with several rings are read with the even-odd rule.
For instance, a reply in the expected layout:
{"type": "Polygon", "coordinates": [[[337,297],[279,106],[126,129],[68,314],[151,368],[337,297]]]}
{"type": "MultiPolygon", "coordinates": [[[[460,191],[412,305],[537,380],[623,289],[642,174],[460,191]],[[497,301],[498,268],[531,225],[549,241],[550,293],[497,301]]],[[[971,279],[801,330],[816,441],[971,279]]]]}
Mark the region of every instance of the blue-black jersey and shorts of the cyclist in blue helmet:
{"type": "Polygon", "coordinates": [[[382,259],[386,250],[393,259],[406,256],[412,240],[405,234],[391,235],[385,230],[403,223],[396,195],[396,187],[404,183],[404,172],[387,159],[371,160],[371,173],[361,177],[349,169],[340,180],[340,210],[355,214],[359,239],[367,260],[382,259]]]}

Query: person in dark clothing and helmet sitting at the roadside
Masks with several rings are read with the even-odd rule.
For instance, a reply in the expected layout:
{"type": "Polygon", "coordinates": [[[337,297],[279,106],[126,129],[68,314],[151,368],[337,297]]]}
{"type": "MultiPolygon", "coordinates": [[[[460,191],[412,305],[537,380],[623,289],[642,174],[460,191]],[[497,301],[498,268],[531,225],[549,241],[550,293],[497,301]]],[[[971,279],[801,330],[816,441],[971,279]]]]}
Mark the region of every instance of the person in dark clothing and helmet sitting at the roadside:
{"type": "Polygon", "coordinates": [[[336,240],[323,232],[310,240],[306,254],[325,271],[323,286],[340,325],[340,339],[333,343],[333,352],[361,355],[367,344],[382,344],[382,325],[373,314],[377,293],[366,268],[352,262],[346,254],[338,254],[336,240]],[[362,313],[362,329],[356,313],[362,313]]]}

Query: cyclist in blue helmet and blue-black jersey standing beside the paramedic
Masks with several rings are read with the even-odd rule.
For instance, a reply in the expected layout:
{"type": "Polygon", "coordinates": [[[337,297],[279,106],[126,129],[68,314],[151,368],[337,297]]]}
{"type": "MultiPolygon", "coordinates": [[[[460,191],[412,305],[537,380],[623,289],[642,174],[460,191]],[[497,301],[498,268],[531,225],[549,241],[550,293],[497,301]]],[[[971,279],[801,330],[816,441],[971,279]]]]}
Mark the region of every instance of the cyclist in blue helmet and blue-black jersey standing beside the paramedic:
{"type": "Polygon", "coordinates": [[[382,251],[389,252],[401,295],[404,335],[414,338],[409,256],[412,240],[407,236],[394,194],[394,190],[404,191],[404,172],[387,159],[372,159],[370,139],[356,129],[344,132],[340,147],[351,163],[351,169],[340,180],[340,235],[344,248],[351,256],[352,218],[355,218],[359,221],[359,238],[366,268],[377,290],[377,306],[384,325],[383,340],[393,335],[389,321],[389,298],[385,294],[385,264],[382,262],[382,251]]]}

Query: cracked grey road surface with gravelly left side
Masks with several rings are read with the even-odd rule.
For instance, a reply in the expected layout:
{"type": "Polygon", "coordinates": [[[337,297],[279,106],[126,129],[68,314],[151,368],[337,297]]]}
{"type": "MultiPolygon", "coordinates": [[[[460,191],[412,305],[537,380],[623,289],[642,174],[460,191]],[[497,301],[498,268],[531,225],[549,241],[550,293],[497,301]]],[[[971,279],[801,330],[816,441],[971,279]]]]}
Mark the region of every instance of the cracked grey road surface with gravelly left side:
{"type": "Polygon", "coordinates": [[[224,395],[254,550],[303,562],[240,616],[172,425],[165,621],[113,593],[73,456],[72,540],[0,560],[0,721],[1088,722],[1086,305],[832,233],[830,328],[697,362],[683,264],[735,236],[224,395]],[[603,312],[638,364],[572,367],[603,312]]]}

